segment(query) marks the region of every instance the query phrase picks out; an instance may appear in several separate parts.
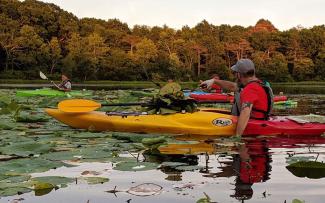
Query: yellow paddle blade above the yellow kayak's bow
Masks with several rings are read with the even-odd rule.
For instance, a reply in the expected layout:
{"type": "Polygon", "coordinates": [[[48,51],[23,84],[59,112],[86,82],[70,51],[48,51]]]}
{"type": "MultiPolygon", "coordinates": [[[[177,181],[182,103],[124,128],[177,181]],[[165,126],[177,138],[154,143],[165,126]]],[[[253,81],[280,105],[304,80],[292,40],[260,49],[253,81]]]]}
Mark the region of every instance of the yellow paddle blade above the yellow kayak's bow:
{"type": "Polygon", "coordinates": [[[86,99],[69,99],[61,101],[58,109],[67,113],[83,113],[94,111],[101,107],[100,103],[86,99]]]}

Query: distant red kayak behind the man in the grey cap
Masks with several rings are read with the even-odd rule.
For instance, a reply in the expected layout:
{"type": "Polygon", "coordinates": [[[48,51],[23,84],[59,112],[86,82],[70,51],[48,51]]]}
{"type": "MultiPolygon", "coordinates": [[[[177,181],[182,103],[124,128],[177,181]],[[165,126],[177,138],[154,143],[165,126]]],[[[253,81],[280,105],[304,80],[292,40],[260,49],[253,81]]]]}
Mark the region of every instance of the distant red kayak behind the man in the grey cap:
{"type": "MultiPolygon", "coordinates": [[[[229,94],[221,93],[207,93],[207,94],[190,94],[190,97],[198,102],[216,102],[216,103],[232,103],[234,101],[234,96],[229,94]]],[[[286,96],[274,96],[273,101],[287,101],[286,96]]]]}

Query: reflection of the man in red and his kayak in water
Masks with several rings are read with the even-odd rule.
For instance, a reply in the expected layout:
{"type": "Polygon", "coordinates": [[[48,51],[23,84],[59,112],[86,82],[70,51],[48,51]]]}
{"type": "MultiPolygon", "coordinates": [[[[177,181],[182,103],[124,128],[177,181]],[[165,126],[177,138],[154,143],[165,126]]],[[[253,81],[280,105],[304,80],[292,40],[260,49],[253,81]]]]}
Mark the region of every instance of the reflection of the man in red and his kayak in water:
{"type": "MultiPolygon", "coordinates": [[[[183,137],[189,140],[189,137],[183,137]]],[[[201,138],[200,138],[201,139],[201,138]]],[[[190,144],[169,144],[160,147],[160,152],[147,153],[145,156],[150,161],[182,162],[188,165],[198,165],[198,156],[204,155],[205,167],[200,170],[203,177],[236,177],[234,193],[231,197],[237,200],[248,200],[253,196],[252,185],[265,182],[270,179],[272,157],[271,148],[299,148],[324,144],[322,137],[255,137],[244,138],[243,143],[234,145],[222,139],[210,138],[209,141],[200,141],[190,144]],[[229,155],[230,154],[230,155],[229,155]],[[209,155],[217,155],[223,159],[217,159],[220,171],[209,167],[209,155]]],[[[168,175],[166,180],[179,181],[182,170],[173,167],[162,167],[161,171],[168,175]]]]}

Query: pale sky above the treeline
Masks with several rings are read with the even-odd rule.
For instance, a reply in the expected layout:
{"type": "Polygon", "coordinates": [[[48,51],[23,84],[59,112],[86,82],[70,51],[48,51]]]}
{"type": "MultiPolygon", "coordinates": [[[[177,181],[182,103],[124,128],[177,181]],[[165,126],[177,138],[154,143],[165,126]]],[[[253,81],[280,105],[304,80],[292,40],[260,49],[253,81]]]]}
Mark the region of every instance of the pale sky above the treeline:
{"type": "Polygon", "coordinates": [[[325,24],[325,0],[43,0],[79,18],[118,18],[134,25],[190,27],[206,19],[214,25],[250,26],[270,20],[280,30],[325,24]]]}

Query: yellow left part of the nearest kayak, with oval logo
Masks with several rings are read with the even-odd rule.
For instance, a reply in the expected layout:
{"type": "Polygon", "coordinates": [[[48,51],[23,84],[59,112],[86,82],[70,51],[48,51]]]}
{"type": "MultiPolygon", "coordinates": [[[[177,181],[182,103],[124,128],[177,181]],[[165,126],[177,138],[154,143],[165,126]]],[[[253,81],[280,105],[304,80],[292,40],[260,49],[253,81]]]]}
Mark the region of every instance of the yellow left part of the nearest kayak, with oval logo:
{"type": "Polygon", "coordinates": [[[192,135],[233,135],[233,116],[198,111],[171,115],[107,115],[105,112],[66,113],[45,109],[46,113],[73,128],[94,131],[167,133],[192,135]]]}

